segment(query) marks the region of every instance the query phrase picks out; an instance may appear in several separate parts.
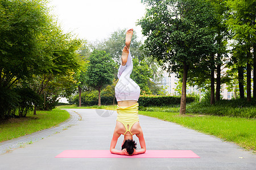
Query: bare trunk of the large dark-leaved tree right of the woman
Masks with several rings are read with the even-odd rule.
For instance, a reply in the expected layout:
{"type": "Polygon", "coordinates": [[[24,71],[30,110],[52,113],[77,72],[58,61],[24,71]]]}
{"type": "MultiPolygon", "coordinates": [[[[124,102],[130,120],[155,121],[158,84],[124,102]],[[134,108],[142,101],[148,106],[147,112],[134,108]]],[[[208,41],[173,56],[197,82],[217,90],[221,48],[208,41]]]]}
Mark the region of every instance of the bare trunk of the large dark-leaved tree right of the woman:
{"type": "Polygon", "coordinates": [[[183,65],[182,90],[181,90],[181,98],[180,98],[180,114],[185,114],[186,113],[187,76],[188,76],[188,65],[186,63],[184,63],[184,65],[183,65]]]}

